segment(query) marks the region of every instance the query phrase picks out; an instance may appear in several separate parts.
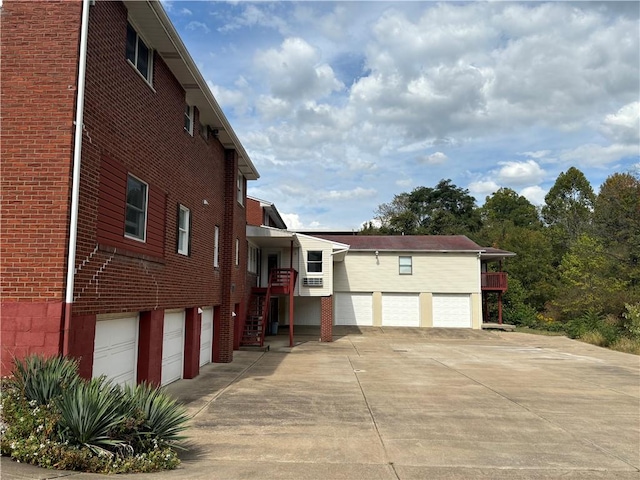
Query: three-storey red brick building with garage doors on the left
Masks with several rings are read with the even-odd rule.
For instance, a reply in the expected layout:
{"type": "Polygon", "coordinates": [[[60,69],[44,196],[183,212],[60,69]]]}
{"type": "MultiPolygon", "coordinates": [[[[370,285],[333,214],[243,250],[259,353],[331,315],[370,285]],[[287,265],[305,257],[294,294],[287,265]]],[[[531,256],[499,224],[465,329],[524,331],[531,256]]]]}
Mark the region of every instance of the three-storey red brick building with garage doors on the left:
{"type": "Polygon", "coordinates": [[[2,374],[29,353],[120,383],[232,361],[258,172],[160,3],[0,14],[2,374]]]}

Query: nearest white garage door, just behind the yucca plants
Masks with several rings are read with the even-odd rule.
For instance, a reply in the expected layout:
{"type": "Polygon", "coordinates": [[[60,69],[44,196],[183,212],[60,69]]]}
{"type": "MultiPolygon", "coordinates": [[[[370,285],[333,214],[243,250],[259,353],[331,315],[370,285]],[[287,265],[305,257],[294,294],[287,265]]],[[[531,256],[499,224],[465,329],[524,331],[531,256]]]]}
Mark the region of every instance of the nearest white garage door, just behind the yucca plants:
{"type": "Polygon", "coordinates": [[[136,384],[138,315],[98,316],[92,376],[106,375],[120,385],[136,384]]]}

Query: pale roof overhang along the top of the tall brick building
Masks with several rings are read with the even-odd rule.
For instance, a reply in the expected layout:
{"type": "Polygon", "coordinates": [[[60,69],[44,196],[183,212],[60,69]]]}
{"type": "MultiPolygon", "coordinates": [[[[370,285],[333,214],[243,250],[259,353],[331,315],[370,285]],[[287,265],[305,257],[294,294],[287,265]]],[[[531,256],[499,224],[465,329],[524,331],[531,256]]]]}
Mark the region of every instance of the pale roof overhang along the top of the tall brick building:
{"type": "Polygon", "coordinates": [[[218,140],[225,148],[236,151],[238,169],[244,177],[247,180],[257,180],[260,177],[258,170],[231,128],[161,3],[152,0],[124,0],[124,4],[129,18],[140,29],[139,33],[162,57],[180,82],[186,93],[187,103],[198,109],[200,122],[218,131],[218,140]]]}

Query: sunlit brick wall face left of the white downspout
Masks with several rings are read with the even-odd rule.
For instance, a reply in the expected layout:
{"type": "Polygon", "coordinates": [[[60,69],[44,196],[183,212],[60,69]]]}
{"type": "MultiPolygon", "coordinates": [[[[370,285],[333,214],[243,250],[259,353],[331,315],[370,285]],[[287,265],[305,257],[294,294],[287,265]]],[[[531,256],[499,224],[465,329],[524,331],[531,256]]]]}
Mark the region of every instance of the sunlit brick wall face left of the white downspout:
{"type": "Polygon", "coordinates": [[[60,348],[81,4],[36,8],[1,13],[3,375],[14,355],[60,348]]]}

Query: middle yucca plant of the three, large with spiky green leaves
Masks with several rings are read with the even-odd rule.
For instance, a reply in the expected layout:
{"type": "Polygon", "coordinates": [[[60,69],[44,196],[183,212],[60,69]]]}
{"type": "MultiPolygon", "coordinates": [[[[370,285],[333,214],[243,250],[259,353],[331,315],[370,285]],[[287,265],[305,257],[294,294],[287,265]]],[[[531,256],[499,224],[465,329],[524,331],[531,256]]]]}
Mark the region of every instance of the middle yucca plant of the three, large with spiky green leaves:
{"type": "Polygon", "coordinates": [[[105,377],[78,382],[55,400],[60,410],[60,436],[71,445],[86,446],[98,455],[113,455],[126,442],[111,432],[130,416],[122,389],[105,377]]]}

